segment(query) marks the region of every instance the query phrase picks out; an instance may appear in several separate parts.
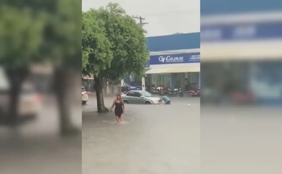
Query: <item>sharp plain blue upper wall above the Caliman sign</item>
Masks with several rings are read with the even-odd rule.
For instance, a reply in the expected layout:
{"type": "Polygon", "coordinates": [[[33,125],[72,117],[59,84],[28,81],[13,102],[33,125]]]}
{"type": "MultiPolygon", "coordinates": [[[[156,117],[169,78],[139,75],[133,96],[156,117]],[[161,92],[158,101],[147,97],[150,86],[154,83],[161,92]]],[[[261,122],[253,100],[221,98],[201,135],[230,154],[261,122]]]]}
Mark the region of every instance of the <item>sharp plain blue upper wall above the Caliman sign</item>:
{"type": "Polygon", "coordinates": [[[147,48],[149,51],[200,48],[200,32],[147,37],[147,48]]]}

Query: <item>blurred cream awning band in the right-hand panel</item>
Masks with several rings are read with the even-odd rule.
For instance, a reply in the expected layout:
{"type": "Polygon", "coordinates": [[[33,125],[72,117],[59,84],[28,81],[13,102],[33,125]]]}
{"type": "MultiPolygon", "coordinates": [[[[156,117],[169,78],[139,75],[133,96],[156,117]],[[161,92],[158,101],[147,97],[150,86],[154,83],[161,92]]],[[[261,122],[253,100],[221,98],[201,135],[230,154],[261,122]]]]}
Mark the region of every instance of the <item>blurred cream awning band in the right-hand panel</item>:
{"type": "Polygon", "coordinates": [[[282,59],[282,40],[201,43],[201,63],[282,59]]]}

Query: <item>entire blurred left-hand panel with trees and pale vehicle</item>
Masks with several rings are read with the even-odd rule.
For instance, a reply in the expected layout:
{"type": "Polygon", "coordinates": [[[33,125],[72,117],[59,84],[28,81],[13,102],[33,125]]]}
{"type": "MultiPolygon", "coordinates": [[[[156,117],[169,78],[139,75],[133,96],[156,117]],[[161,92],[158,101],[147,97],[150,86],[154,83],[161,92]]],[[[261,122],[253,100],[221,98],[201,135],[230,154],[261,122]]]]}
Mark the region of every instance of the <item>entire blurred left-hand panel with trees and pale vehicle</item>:
{"type": "Polygon", "coordinates": [[[80,173],[81,1],[1,1],[0,69],[0,173],[80,173]]]}

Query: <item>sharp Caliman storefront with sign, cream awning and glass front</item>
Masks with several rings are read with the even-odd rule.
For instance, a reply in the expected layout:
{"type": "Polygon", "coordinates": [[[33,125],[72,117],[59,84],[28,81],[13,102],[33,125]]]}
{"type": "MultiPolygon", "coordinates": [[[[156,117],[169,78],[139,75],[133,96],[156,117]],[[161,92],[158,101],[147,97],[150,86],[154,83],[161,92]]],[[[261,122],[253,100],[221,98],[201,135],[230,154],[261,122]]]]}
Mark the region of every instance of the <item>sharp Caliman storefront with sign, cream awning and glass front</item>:
{"type": "Polygon", "coordinates": [[[151,55],[146,74],[150,85],[184,90],[183,83],[187,81],[190,88],[197,88],[200,86],[200,53],[151,55]]]}

